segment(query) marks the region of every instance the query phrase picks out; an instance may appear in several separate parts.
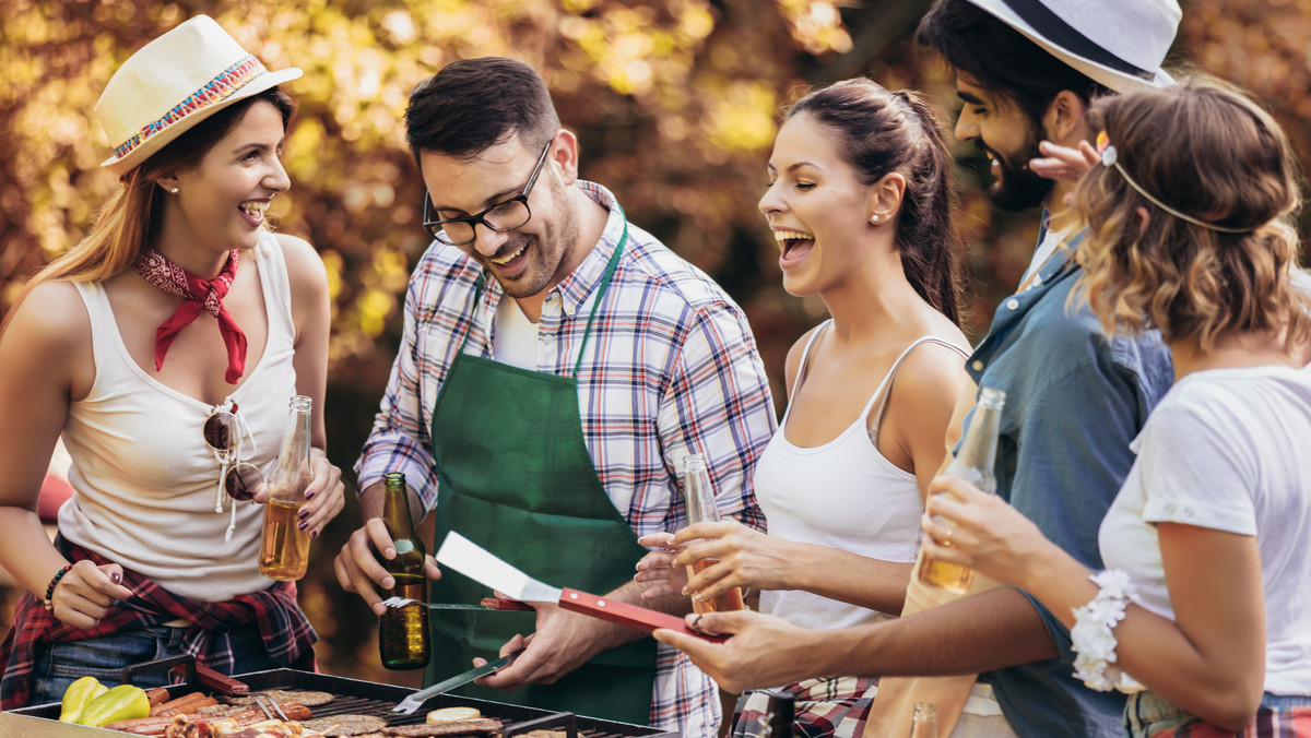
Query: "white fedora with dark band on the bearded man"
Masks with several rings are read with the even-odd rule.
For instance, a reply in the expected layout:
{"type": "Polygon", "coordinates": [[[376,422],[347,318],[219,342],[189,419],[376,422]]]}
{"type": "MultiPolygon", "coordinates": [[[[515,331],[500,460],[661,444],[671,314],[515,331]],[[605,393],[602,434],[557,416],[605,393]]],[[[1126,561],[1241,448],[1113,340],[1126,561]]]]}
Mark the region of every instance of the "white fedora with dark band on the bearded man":
{"type": "Polygon", "coordinates": [[[1116,92],[1175,84],[1162,68],[1176,0],[969,0],[1116,92]]]}

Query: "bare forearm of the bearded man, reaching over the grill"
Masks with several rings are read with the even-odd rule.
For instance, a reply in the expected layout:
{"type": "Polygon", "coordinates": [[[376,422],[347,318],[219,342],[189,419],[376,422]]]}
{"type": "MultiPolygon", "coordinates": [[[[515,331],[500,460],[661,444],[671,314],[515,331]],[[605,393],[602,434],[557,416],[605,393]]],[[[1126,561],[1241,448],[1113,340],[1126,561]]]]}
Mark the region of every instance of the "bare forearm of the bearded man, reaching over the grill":
{"type": "MultiPolygon", "coordinates": [[[[791,649],[789,649],[791,650],[791,649]]],[[[810,676],[945,676],[1057,657],[1038,611],[992,590],[898,620],[826,632],[796,649],[810,676]]]]}

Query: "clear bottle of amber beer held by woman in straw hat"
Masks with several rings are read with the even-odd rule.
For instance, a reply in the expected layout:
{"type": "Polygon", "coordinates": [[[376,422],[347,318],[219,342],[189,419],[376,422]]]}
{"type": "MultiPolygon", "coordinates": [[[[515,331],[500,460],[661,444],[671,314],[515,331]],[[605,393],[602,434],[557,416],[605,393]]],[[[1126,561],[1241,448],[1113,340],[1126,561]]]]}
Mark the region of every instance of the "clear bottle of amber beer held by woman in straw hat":
{"type": "Polygon", "coordinates": [[[269,502],[264,506],[260,573],[270,579],[296,581],[309,565],[309,534],[302,531],[300,506],[309,486],[309,409],[304,395],[291,398],[278,463],[267,477],[269,502]]]}

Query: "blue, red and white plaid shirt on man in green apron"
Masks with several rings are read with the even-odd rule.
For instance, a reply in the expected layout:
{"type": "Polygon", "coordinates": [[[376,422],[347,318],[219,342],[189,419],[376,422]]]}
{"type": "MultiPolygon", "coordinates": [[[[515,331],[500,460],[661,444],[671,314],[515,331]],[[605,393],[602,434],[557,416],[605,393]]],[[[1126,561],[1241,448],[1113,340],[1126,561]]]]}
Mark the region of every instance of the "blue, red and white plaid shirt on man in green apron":
{"type": "MultiPolygon", "coordinates": [[[[595,288],[624,232],[615,197],[591,182],[579,186],[610,210],[610,218],[597,246],[541,308],[538,371],[561,376],[573,372],[595,288]]],[[[489,279],[475,304],[480,274],[464,252],[439,243],[414,269],[402,343],[355,463],[359,489],[385,472],[404,472],[426,509],[437,503],[429,435],[437,395],[465,334],[467,353],[492,357],[493,316],[505,295],[489,279]]],[[[587,451],[615,507],[638,536],[680,528],[686,514],[678,472],[684,455],[703,454],[720,513],[763,528],[751,472],[773,434],[775,417],[742,311],[704,273],[633,224],[604,300],[578,372],[578,409],[587,451]]],[[[707,704],[714,703],[713,683],[666,649],[661,646],[658,659],[653,724],[678,721],[684,734],[699,734],[688,731],[684,718],[717,712],[717,704],[707,704]],[[695,688],[688,687],[694,682],[695,688]]]]}

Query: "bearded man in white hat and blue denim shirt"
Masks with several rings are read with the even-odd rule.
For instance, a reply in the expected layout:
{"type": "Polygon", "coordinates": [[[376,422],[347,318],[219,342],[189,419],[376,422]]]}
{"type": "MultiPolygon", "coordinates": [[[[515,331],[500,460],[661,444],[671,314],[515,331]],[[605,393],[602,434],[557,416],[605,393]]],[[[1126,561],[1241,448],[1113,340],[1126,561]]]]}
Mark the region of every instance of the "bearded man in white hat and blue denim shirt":
{"type": "MultiPolygon", "coordinates": [[[[956,135],[992,161],[994,204],[1045,208],[1019,290],[966,362],[975,385],[949,435],[969,426],[977,388],[1006,392],[996,492],[1093,569],[1130,442],[1173,370],[1156,336],[1106,336],[1084,301],[1068,299],[1083,235],[1065,204],[1078,161],[1062,152],[1096,135],[1093,97],[1173,84],[1162,63],[1180,17],[1175,0],[940,0],[918,31],[956,72],[956,135]]],[[[906,602],[899,620],[839,632],[725,613],[697,624],[734,634],[722,645],[657,638],[734,691],[853,669],[882,675],[867,738],[909,734],[916,701],[937,704],[944,735],[1124,734],[1124,695],[1074,678],[1068,629],[1028,594],[975,577],[970,596],[956,598],[912,579],[906,602]]]]}

